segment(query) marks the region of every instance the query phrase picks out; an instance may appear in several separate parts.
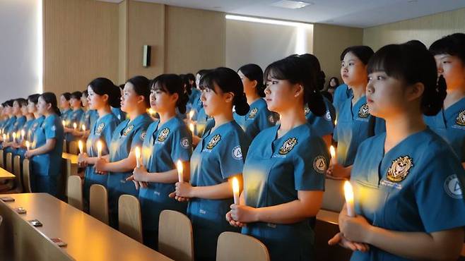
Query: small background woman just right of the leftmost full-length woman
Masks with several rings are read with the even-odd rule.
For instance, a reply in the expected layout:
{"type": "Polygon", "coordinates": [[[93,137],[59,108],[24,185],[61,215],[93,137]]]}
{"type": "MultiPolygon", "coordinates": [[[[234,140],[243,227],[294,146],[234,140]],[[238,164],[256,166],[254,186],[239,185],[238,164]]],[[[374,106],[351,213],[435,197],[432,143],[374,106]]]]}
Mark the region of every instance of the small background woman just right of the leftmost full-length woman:
{"type": "Polygon", "coordinates": [[[71,97],[69,99],[69,104],[71,105],[72,111],[69,112],[67,118],[67,125],[64,128],[65,133],[65,140],[66,142],[71,142],[76,140],[77,137],[81,136],[76,130],[79,130],[81,124],[81,118],[84,114],[84,111],[81,107],[81,97],[82,92],[73,92],[71,93],[71,97]],[[76,123],[76,128],[74,128],[74,124],[76,123]]]}

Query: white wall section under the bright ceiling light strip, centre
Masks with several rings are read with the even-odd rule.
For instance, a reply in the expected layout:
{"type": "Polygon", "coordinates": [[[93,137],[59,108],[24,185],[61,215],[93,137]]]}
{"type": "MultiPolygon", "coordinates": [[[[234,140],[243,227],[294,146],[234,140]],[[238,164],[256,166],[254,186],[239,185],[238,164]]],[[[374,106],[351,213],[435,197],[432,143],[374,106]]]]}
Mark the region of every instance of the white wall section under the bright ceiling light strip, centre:
{"type": "Polygon", "coordinates": [[[290,54],[312,53],[313,25],[277,25],[226,20],[226,66],[257,63],[263,70],[290,54]]]}

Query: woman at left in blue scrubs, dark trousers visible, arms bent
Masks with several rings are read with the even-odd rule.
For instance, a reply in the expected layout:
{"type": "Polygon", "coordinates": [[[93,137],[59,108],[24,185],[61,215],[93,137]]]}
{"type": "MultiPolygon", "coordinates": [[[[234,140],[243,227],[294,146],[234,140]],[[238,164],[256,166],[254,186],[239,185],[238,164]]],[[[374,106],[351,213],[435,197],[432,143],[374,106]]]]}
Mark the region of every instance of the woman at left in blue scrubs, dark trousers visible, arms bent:
{"type": "Polygon", "coordinates": [[[35,130],[31,149],[25,152],[25,157],[31,159],[31,186],[33,192],[45,192],[57,197],[64,130],[59,117],[57,97],[53,92],[40,95],[37,111],[45,119],[35,130]]]}

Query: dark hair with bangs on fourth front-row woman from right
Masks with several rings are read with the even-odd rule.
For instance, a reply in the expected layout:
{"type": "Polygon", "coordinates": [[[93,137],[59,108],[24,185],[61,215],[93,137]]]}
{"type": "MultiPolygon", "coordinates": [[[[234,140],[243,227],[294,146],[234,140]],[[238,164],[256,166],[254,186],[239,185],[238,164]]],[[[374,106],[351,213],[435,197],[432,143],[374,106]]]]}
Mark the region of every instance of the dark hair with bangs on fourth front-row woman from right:
{"type": "Polygon", "coordinates": [[[151,81],[151,89],[161,90],[162,92],[167,92],[170,95],[177,93],[179,98],[177,99],[176,107],[179,109],[181,114],[186,113],[186,104],[189,101],[189,97],[184,92],[181,77],[175,74],[158,75],[151,81]]]}

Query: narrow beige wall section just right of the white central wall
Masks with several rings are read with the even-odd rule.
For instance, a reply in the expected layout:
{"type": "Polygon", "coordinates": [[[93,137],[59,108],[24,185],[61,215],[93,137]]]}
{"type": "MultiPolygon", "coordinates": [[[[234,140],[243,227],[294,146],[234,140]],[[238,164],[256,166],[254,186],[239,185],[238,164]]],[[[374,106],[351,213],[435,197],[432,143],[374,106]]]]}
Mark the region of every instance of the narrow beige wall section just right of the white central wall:
{"type": "Polygon", "coordinates": [[[341,80],[341,52],[346,47],[362,44],[362,40],[363,29],[314,24],[313,54],[322,64],[326,81],[333,76],[341,80]]]}

